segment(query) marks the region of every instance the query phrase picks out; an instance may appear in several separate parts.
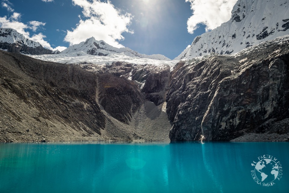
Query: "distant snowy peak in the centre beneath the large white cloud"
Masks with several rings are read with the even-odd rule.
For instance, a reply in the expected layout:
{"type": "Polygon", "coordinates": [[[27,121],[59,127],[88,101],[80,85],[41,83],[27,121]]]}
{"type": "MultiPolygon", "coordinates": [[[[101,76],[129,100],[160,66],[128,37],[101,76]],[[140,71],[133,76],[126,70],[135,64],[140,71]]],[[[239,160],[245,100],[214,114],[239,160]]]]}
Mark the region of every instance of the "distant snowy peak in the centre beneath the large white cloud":
{"type": "Polygon", "coordinates": [[[85,42],[80,42],[79,44],[75,44],[66,48],[65,50],[61,52],[61,54],[72,54],[76,52],[78,52],[78,54],[81,54],[81,52],[84,52],[85,54],[98,55],[98,56],[107,56],[109,54],[123,53],[129,57],[139,57],[139,58],[149,58],[149,59],[154,59],[154,60],[170,61],[169,58],[161,54],[147,55],[147,54],[140,54],[137,51],[133,51],[130,48],[116,48],[105,43],[103,40],[97,41],[95,40],[94,37],[86,39],[85,42]]]}

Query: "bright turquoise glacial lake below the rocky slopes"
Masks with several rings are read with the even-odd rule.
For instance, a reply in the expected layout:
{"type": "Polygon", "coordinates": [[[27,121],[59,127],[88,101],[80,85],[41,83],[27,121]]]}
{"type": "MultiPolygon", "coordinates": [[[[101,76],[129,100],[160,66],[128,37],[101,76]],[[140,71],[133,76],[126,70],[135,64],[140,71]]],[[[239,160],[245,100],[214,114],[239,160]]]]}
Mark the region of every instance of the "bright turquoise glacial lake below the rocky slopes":
{"type": "Polygon", "coordinates": [[[288,193],[288,182],[287,142],[0,144],[1,193],[288,193]]]}

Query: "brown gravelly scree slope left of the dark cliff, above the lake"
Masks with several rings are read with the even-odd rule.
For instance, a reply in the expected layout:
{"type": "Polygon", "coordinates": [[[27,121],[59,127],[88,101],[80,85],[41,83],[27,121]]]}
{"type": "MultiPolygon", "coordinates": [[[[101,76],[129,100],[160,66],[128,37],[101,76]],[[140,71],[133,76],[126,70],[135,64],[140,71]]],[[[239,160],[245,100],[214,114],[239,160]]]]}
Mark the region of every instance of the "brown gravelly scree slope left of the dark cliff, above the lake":
{"type": "Polygon", "coordinates": [[[0,96],[0,142],[169,140],[164,103],[113,73],[0,51],[0,96]]]}

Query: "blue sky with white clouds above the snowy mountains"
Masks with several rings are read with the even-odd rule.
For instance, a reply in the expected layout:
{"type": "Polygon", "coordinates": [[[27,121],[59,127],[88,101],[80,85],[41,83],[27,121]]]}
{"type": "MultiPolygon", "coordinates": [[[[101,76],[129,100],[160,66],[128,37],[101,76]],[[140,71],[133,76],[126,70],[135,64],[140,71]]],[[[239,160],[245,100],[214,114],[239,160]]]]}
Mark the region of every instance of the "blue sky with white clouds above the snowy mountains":
{"type": "Polygon", "coordinates": [[[196,36],[229,20],[236,1],[0,0],[0,26],[17,28],[50,49],[94,36],[116,47],[173,59],[196,36]]]}

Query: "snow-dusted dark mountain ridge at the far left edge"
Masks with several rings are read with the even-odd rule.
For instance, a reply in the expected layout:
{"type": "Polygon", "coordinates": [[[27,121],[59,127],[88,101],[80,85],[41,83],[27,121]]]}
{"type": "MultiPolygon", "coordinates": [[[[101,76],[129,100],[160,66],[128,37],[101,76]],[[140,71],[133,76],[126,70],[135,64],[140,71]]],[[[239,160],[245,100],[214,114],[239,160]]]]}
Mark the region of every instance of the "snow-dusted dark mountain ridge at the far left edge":
{"type": "Polygon", "coordinates": [[[43,48],[39,42],[25,38],[11,28],[0,28],[0,48],[14,53],[22,54],[53,54],[55,51],[43,48]]]}

